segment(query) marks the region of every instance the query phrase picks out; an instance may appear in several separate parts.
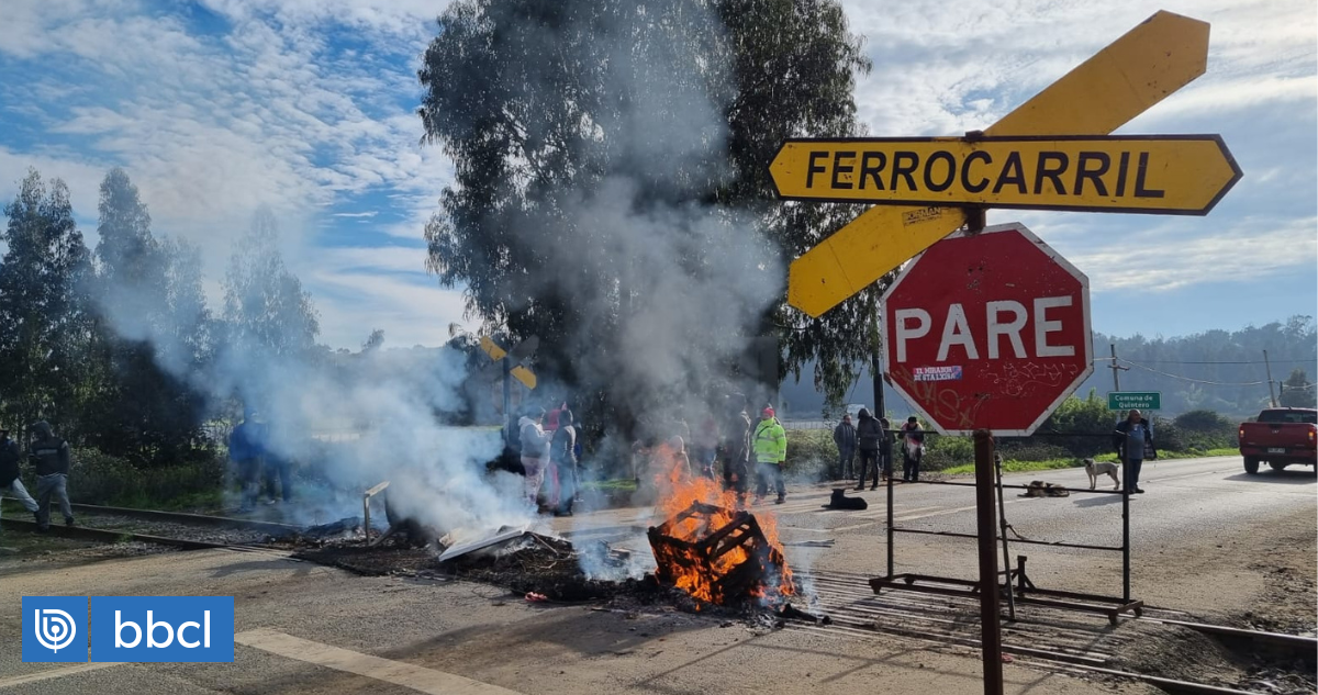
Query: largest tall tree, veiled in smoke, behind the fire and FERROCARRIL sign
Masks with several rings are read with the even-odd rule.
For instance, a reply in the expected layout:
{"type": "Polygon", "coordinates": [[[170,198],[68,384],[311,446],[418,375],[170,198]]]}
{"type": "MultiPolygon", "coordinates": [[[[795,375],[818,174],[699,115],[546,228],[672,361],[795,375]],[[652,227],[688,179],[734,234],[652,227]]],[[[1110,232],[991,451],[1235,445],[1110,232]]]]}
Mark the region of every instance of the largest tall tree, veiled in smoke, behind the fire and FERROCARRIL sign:
{"type": "Polygon", "coordinates": [[[847,212],[778,203],[767,166],[786,137],[857,134],[867,68],[833,0],[453,3],[419,74],[456,167],[430,267],[568,386],[691,391],[772,332],[838,387],[873,294],[809,321],[782,290],[847,212]]]}

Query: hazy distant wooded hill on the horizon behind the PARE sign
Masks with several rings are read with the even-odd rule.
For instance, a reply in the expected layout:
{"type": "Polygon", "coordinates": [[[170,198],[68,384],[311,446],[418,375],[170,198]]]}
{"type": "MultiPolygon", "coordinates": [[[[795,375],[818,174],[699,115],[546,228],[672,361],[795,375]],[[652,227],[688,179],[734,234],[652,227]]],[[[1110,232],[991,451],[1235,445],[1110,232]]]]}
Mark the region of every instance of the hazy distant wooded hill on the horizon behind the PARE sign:
{"type": "MultiPolygon", "coordinates": [[[[1207,408],[1230,417],[1257,415],[1268,405],[1268,375],[1263,351],[1268,350],[1272,378],[1280,384],[1293,370],[1305,371],[1307,383],[1318,378],[1318,330],[1311,316],[1293,316],[1240,330],[1207,330],[1172,338],[1115,337],[1094,333],[1094,375],[1077,391],[1099,395],[1112,390],[1111,345],[1116,346],[1123,391],[1160,391],[1162,416],[1207,408]]],[[[801,380],[788,378],[779,398],[791,417],[815,419],[824,409],[824,394],[815,390],[815,366],[801,370],[801,380]]],[[[1307,390],[1313,403],[1315,388],[1307,390]]],[[[886,388],[887,409],[898,416],[911,407],[886,388]]],[[[1280,395],[1280,394],[1278,394],[1280,395]]],[[[873,405],[869,369],[853,386],[845,403],[873,405]]]]}

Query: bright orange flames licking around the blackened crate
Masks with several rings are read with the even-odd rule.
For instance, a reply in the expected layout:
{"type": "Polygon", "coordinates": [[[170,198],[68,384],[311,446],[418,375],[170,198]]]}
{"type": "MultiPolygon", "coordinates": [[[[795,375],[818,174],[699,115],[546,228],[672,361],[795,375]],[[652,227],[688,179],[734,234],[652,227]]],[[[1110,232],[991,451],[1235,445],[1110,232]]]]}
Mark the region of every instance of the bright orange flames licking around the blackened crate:
{"type": "MultiPolygon", "coordinates": [[[[663,520],[679,517],[683,512],[691,509],[695,503],[702,503],[714,508],[709,515],[687,516],[666,527],[664,532],[667,536],[680,541],[697,542],[735,520],[734,515],[741,507],[735,491],[724,490],[718,480],[692,475],[687,457],[670,445],[655,448],[654,454],[654,463],[663,471],[655,480],[656,490],[659,491],[656,512],[662,515],[663,520]]],[[[759,524],[760,533],[763,533],[764,540],[768,542],[768,553],[764,555],[772,558],[772,561],[767,561],[771,566],[762,566],[759,573],[762,580],[768,579],[768,582],[751,588],[750,594],[776,603],[782,596],[793,595],[796,586],[792,582],[792,571],[787,567],[782,544],[778,538],[778,520],[768,512],[757,513],[755,520],[759,524]],[[775,578],[778,578],[776,583],[774,583],[775,578]]],[[[716,592],[714,584],[728,575],[728,573],[746,562],[764,562],[763,557],[753,557],[742,545],[712,558],[708,570],[705,569],[704,559],[693,549],[670,546],[664,550],[664,554],[668,553],[672,557],[656,557],[655,559],[660,562],[660,566],[666,566],[671,571],[675,586],[696,599],[710,603],[718,603],[720,596],[716,592]]]]}

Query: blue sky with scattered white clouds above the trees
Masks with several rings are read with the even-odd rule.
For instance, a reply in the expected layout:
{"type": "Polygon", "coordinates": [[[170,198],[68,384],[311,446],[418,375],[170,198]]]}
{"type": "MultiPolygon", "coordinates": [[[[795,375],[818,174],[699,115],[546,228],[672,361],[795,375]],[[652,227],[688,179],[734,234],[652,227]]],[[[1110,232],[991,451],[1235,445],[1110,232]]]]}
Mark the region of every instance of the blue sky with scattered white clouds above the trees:
{"type": "MultiPolygon", "coordinates": [[[[874,72],[874,136],[990,125],[1147,18],[1139,1],[844,1],[874,72]],[[975,7],[975,5],[971,5],[975,7]],[[1010,9],[1008,9],[1010,8],[1010,9]]],[[[443,1],[7,0],[0,199],[62,176],[88,242],[98,186],[128,170],[157,233],[206,254],[207,290],[258,205],[277,212],[322,338],[435,345],[461,297],[424,272],[451,165],[419,143],[416,67],[443,1]]],[[[1318,21],[1311,0],[1166,3],[1211,22],[1209,72],[1119,130],[1220,133],[1244,179],[1207,217],[990,212],[1090,278],[1093,325],[1174,336],[1315,313],[1318,21]]]]}

